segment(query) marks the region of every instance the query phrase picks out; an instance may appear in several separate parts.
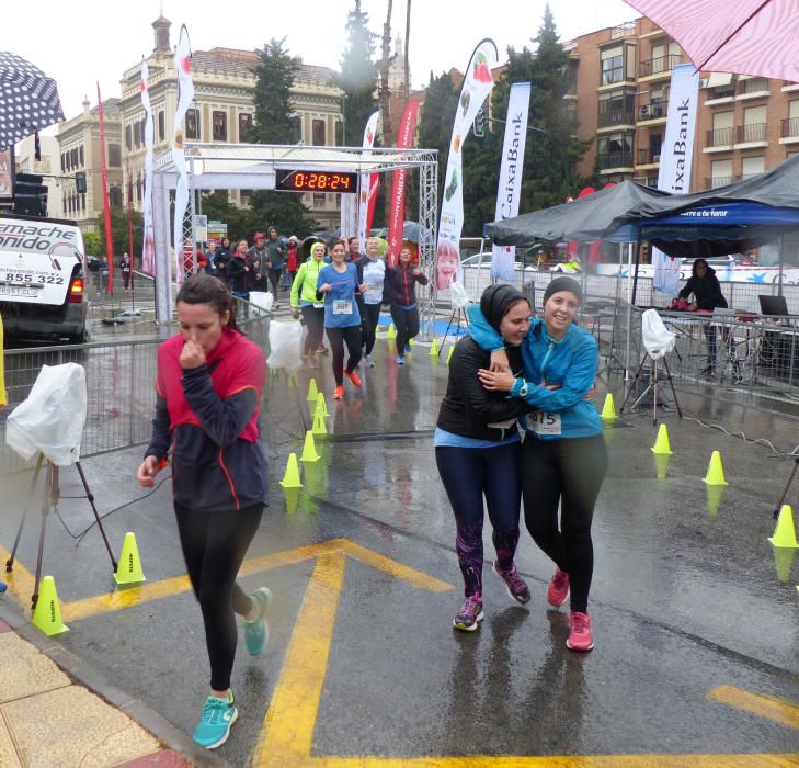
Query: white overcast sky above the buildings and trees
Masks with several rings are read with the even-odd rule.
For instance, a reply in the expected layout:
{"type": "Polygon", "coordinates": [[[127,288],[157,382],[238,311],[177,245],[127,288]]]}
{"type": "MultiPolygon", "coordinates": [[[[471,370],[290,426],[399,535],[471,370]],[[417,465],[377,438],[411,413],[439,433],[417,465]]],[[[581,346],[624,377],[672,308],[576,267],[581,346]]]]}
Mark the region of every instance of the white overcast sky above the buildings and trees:
{"type": "MultiPolygon", "coordinates": [[[[504,59],[507,46],[529,45],[540,26],[546,0],[415,0],[411,15],[411,84],[468,64],[475,45],[492,37],[504,59]]],[[[172,22],[172,45],[186,24],[193,49],[215,46],[251,50],[271,37],[286,37],[293,55],[307,64],[336,68],[345,45],[346,14],[354,0],[36,0],[3,2],[0,49],[31,60],[58,82],[66,116],[80,113],[84,94],[96,103],[119,95],[119,79],[153,47],[150,24],[161,9],[172,22]]],[[[551,0],[561,41],[614,26],[638,14],[623,0],[551,0]]],[[[388,3],[362,0],[369,27],[380,34],[388,3]]],[[[404,38],[406,3],[393,2],[391,36],[404,38]]],[[[378,41],[379,45],[379,41],[378,41]]]]}

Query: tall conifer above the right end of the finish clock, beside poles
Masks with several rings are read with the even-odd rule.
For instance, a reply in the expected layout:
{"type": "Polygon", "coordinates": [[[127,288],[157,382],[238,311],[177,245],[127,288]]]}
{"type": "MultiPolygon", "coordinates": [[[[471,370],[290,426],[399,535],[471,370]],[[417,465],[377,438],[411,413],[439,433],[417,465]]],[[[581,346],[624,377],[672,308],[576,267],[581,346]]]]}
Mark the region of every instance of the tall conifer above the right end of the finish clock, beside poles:
{"type": "Polygon", "coordinates": [[[361,10],[361,0],[346,18],[346,49],[341,58],[341,72],[335,82],[343,91],[344,132],[342,143],[359,147],[364,128],[377,109],[377,65],[374,61],[375,37],[369,31],[369,14],[361,10]]]}

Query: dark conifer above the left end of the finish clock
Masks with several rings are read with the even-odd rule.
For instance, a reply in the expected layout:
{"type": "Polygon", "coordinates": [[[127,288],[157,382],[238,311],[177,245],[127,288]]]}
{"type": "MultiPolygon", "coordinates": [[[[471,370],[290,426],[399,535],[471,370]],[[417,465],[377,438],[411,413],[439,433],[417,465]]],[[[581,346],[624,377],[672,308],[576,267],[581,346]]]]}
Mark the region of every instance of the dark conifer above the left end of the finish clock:
{"type": "Polygon", "coordinates": [[[285,42],[285,37],[273,37],[258,52],[253,93],[255,124],[248,133],[248,142],[296,144],[300,138],[290,98],[299,63],[286,50],[285,42]]]}

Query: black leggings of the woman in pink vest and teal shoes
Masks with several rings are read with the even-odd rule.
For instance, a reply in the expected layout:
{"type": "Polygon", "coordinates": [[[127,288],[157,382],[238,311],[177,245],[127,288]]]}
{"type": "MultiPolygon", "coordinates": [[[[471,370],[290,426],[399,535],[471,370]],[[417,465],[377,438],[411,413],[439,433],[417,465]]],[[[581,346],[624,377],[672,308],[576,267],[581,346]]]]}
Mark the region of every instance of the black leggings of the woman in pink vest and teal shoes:
{"type": "Polygon", "coordinates": [[[224,691],[230,688],[239,639],[235,612],[252,610],[252,598],[236,584],[236,575],[261,523],[263,505],[201,512],[175,504],[174,511],[186,571],[203,611],[210,687],[224,691]]]}

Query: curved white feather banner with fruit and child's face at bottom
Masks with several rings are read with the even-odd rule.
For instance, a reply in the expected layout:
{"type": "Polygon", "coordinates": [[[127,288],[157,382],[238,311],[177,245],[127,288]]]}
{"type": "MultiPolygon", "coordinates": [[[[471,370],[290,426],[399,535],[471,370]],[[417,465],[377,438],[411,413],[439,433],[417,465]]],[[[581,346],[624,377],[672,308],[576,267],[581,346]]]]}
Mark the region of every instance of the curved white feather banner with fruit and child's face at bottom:
{"type": "Polygon", "coordinates": [[[464,227],[464,169],[461,149],[478,110],[491,93],[494,80],[491,69],[498,64],[496,44],[484,39],[475,48],[460,88],[455,112],[449,157],[444,176],[444,197],[441,203],[438,244],[436,247],[436,287],[448,289],[460,268],[460,230],[464,227]]]}

